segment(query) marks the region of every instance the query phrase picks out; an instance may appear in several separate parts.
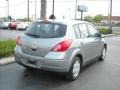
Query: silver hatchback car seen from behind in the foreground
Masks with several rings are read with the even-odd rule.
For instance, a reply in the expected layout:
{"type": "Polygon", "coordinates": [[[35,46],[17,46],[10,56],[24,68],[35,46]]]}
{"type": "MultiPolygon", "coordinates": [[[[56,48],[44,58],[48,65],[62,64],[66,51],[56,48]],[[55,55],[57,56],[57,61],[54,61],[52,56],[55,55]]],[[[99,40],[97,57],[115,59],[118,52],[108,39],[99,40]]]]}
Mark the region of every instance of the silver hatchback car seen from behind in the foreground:
{"type": "Polygon", "coordinates": [[[89,22],[43,20],[17,38],[14,55],[27,69],[64,72],[68,80],[75,80],[88,62],[103,61],[106,50],[106,42],[89,22]]]}

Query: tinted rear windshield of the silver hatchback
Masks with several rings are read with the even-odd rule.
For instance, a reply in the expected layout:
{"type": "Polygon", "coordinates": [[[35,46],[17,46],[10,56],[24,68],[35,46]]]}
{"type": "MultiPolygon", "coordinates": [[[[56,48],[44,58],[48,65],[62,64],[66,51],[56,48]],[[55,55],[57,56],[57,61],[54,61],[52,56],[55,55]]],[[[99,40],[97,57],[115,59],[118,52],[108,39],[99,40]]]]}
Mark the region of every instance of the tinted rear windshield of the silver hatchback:
{"type": "Polygon", "coordinates": [[[65,36],[66,29],[67,26],[64,24],[34,22],[28,27],[25,34],[38,38],[59,38],[65,36]]]}

